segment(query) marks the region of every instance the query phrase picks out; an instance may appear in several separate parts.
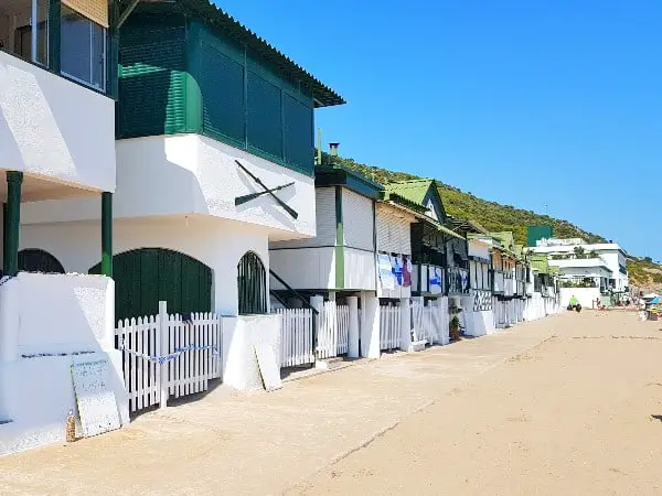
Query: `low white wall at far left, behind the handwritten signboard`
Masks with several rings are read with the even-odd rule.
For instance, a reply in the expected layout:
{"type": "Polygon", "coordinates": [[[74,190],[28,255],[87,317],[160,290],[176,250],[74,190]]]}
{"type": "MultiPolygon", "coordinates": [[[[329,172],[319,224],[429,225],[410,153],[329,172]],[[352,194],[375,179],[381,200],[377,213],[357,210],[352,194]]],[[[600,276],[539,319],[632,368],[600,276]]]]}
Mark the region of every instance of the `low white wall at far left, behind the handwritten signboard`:
{"type": "Polygon", "coordinates": [[[21,272],[0,287],[0,453],[64,440],[75,411],[71,366],[106,358],[122,424],[121,357],[115,351],[109,278],[21,272]]]}

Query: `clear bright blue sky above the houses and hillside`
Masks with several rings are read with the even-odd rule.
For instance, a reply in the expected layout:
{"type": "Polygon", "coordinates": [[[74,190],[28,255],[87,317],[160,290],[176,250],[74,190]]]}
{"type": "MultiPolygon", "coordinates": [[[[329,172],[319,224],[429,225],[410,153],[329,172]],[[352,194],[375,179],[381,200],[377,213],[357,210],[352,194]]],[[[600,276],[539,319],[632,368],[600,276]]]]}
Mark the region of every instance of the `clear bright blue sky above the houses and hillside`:
{"type": "Polygon", "coordinates": [[[345,97],[316,117],[342,155],[662,259],[662,2],[545,3],[221,4],[345,97]]]}

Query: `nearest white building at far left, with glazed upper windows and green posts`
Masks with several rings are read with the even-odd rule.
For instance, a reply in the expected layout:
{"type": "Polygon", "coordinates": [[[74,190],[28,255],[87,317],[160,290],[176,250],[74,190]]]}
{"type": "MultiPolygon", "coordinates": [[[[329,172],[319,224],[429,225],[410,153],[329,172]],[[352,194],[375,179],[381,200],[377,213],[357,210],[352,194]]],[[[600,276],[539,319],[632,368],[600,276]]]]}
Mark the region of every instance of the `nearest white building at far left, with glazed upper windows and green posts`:
{"type": "MultiPolygon", "coordinates": [[[[64,439],[72,365],[103,363],[117,420],[128,421],[115,349],[111,276],[116,188],[114,44],[107,0],[0,2],[0,453],[64,439]],[[36,29],[33,29],[36,26],[36,29]],[[57,29],[54,29],[57,26],[57,29]],[[7,177],[7,181],[4,181],[7,177]],[[67,236],[71,204],[96,213],[67,236]],[[63,228],[60,234],[58,229],[63,228]],[[40,236],[34,236],[41,230],[40,236]],[[103,276],[47,254],[102,260],[103,276]],[[22,270],[58,273],[25,273],[22,270]],[[67,272],[67,273],[64,273],[67,272]]],[[[83,215],[82,212],[78,215],[83,215]]]]}

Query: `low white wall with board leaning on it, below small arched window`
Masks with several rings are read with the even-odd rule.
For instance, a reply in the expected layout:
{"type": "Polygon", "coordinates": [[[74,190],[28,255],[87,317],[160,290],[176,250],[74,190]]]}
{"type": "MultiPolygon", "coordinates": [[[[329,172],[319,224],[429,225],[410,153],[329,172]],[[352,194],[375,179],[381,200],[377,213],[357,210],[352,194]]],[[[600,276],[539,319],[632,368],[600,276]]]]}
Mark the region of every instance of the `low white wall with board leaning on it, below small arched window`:
{"type": "Polygon", "coordinates": [[[223,384],[241,391],[263,389],[255,345],[273,348],[280,363],[279,315],[241,315],[221,319],[223,333],[223,384]]]}

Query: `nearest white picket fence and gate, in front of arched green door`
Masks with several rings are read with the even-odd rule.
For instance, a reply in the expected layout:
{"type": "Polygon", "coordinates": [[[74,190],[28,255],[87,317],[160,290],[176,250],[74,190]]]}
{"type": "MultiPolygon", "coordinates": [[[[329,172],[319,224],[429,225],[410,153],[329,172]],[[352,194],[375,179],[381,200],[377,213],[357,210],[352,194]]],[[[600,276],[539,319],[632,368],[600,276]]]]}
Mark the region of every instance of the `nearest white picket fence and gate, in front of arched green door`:
{"type": "Polygon", "coordinates": [[[205,391],[211,379],[221,377],[220,319],[193,313],[184,322],[169,315],[164,304],[160,310],[159,315],[120,321],[115,330],[134,412],[164,407],[170,396],[205,391]]]}

